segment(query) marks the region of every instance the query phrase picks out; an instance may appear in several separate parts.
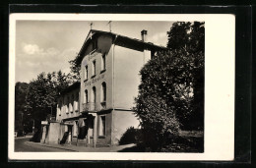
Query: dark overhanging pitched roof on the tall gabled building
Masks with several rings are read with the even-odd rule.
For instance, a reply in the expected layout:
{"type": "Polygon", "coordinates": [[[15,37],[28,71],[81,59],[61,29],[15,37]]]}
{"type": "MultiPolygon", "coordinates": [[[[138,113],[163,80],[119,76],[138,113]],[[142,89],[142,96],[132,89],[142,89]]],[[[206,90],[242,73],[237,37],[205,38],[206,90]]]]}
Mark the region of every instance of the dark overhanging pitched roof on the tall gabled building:
{"type": "Polygon", "coordinates": [[[160,51],[160,50],[167,50],[166,47],[155,45],[152,42],[144,42],[140,39],[131,38],[128,36],[120,35],[117,33],[109,32],[109,31],[102,31],[97,29],[91,29],[88,33],[88,36],[79,52],[79,55],[83,55],[83,52],[85,52],[87,46],[89,45],[90,41],[94,36],[100,35],[100,34],[108,34],[112,37],[114,44],[127,47],[130,49],[143,51],[144,49],[147,50],[154,50],[154,51],[160,51]]]}

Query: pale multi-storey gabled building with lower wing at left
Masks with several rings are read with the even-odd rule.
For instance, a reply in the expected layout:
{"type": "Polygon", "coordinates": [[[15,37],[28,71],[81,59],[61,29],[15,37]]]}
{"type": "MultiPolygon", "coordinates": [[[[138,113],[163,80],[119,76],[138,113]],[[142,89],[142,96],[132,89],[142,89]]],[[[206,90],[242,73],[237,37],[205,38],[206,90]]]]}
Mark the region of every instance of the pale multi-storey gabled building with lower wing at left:
{"type": "Polygon", "coordinates": [[[147,30],[141,34],[139,40],[90,30],[78,55],[81,83],[71,85],[58,101],[54,124],[59,126],[52,129],[58,141],[69,133],[68,142],[111,145],[129,127],[139,126],[132,110],[139,71],[156,51],[166,49],[147,42],[147,30]]]}

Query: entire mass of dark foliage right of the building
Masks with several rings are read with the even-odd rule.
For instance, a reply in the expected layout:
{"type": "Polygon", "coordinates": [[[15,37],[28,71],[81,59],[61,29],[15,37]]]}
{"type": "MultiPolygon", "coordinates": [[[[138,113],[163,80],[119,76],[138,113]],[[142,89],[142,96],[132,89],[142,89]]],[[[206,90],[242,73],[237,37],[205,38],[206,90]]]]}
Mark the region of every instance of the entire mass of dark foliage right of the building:
{"type": "Polygon", "coordinates": [[[174,23],[167,47],[140,71],[136,98],[143,140],[155,149],[180,129],[204,128],[204,23],[174,23]]]}

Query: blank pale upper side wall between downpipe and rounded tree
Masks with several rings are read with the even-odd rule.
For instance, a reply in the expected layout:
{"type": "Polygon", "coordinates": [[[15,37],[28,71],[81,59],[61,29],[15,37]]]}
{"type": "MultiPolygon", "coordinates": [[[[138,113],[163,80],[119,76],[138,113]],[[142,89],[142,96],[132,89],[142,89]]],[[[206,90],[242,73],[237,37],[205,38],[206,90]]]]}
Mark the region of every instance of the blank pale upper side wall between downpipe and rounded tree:
{"type": "Polygon", "coordinates": [[[114,105],[131,109],[141,83],[139,72],[144,64],[144,52],[115,46],[114,48],[114,105]]]}

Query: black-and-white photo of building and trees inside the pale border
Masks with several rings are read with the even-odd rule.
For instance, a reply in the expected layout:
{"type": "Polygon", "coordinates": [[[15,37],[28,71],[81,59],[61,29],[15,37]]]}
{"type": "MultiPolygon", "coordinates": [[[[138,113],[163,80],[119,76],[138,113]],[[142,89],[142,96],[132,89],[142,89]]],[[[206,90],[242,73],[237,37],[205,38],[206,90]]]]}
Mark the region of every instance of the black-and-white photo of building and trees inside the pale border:
{"type": "Polygon", "coordinates": [[[14,23],[14,153],[206,152],[205,20],[14,23]]]}

